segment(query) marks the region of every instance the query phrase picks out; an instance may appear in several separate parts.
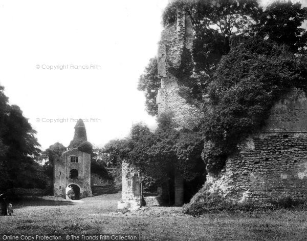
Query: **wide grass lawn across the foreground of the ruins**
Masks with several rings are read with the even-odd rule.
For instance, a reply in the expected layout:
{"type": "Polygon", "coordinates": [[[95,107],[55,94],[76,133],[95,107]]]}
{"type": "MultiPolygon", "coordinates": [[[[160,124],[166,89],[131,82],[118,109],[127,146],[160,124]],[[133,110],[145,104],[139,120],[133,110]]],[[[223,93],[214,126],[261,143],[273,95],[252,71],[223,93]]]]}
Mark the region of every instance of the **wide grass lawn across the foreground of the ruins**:
{"type": "Polygon", "coordinates": [[[118,213],[120,193],[67,202],[43,197],[13,203],[0,216],[3,234],[139,233],[141,240],[307,240],[307,211],[210,213],[192,217],[178,207],[144,207],[118,213]]]}

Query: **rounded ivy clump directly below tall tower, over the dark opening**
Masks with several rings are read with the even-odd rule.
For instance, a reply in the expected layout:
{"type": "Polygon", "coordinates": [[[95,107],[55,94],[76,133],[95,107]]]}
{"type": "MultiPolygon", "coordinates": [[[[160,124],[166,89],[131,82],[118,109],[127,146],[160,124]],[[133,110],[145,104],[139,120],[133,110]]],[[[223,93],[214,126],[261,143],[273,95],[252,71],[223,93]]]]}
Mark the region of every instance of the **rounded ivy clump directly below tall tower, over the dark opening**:
{"type": "Polygon", "coordinates": [[[198,131],[177,130],[171,114],[161,114],[158,128],[150,132],[146,126],[135,126],[134,148],[130,160],[142,174],[162,183],[174,169],[179,169],[186,180],[193,180],[204,173],[201,151],[203,139],[198,131]]]}

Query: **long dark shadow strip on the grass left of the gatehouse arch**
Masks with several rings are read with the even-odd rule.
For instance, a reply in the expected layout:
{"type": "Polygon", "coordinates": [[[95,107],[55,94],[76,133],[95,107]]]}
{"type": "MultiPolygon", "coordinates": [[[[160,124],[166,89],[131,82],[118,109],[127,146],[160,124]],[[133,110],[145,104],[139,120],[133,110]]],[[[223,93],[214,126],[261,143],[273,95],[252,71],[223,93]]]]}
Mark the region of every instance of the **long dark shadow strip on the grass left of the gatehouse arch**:
{"type": "Polygon", "coordinates": [[[46,199],[45,197],[24,197],[21,199],[12,200],[14,209],[28,207],[28,206],[68,206],[75,205],[76,203],[67,201],[65,199],[46,199]]]}

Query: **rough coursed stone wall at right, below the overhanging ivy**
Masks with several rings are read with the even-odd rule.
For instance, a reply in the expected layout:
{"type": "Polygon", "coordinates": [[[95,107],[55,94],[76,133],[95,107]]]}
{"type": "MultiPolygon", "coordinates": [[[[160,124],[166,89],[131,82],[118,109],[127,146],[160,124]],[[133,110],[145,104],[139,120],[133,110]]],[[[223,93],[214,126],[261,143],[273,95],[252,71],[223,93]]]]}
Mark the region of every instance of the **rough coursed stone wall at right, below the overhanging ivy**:
{"type": "Polygon", "coordinates": [[[291,196],[307,200],[307,98],[293,89],[271,109],[267,124],[239,146],[211,190],[235,201],[262,202],[291,196]]]}

